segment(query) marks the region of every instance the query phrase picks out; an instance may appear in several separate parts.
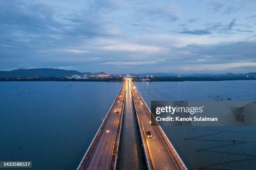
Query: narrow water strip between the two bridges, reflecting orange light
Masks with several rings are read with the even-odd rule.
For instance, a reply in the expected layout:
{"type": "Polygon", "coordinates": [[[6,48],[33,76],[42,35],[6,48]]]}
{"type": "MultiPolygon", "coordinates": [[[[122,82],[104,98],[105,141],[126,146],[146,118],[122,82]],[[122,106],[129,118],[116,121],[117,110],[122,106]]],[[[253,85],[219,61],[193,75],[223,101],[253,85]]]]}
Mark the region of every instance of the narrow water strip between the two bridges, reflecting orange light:
{"type": "Polygon", "coordinates": [[[134,111],[131,89],[125,96],[122,134],[118,150],[118,170],[147,170],[145,155],[134,111]]]}

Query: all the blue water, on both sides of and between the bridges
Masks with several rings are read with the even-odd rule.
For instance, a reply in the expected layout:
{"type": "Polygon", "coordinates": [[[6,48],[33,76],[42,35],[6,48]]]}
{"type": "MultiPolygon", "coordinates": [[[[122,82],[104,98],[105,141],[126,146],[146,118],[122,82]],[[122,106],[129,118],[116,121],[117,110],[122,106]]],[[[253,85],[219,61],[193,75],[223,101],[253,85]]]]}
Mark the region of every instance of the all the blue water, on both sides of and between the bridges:
{"type": "MultiPolygon", "coordinates": [[[[148,103],[256,100],[254,80],[135,85],[148,103]]],[[[0,160],[32,160],[33,169],[76,169],[121,86],[121,82],[0,82],[0,160]]],[[[143,169],[129,93],[127,99],[118,169],[143,169]]],[[[196,170],[200,160],[208,169],[256,169],[256,127],[163,129],[189,170],[196,170]]]]}

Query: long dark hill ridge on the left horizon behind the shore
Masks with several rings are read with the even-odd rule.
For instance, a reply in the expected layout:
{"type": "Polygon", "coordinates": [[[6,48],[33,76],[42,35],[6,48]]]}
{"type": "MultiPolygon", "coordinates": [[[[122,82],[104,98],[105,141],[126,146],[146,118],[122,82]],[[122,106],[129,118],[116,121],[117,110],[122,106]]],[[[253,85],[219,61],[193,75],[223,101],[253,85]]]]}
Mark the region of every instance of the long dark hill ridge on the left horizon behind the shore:
{"type": "Polygon", "coordinates": [[[106,74],[105,72],[91,73],[79,72],[75,70],[61,70],[56,68],[34,68],[34,69],[18,69],[11,71],[0,71],[0,77],[65,77],[72,75],[98,75],[106,74]]]}

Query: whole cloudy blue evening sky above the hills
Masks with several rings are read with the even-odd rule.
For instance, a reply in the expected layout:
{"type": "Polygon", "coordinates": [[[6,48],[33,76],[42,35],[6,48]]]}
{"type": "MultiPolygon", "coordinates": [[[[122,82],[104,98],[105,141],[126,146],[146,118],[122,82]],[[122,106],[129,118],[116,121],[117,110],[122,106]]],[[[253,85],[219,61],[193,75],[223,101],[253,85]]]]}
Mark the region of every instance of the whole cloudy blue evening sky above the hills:
{"type": "Polygon", "coordinates": [[[256,72],[256,0],[0,0],[0,70],[256,72]]]}

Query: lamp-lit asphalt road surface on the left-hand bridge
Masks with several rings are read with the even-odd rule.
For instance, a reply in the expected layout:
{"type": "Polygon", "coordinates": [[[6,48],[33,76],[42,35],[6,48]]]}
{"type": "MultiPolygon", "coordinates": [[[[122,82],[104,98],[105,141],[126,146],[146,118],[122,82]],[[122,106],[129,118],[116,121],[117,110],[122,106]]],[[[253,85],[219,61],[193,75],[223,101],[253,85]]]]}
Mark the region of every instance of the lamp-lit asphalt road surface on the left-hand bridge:
{"type": "Polygon", "coordinates": [[[128,81],[124,82],[122,89],[117,95],[120,99],[118,99],[118,97],[115,98],[115,101],[108,112],[109,115],[107,115],[106,122],[100,131],[101,133],[98,134],[99,137],[95,142],[96,144],[91,147],[91,152],[84,155],[77,170],[109,170],[113,168],[113,161],[115,161],[113,157],[116,156],[114,145],[116,147],[117,139],[120,135],[118,135],[120,132],[118,125],[120,127],[121,115],[123,115],[122,112],[127,82],[128,81]],[[118,102],[118,104],[116,104],[116,102],[118,102]],[[117,110],[119,110],[119,112],[116,112],[117,110]]]}

